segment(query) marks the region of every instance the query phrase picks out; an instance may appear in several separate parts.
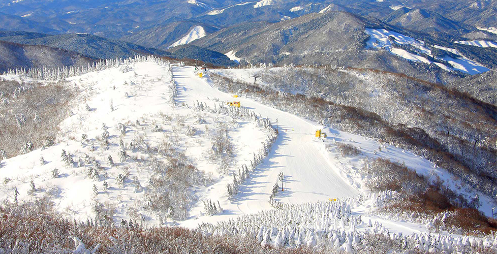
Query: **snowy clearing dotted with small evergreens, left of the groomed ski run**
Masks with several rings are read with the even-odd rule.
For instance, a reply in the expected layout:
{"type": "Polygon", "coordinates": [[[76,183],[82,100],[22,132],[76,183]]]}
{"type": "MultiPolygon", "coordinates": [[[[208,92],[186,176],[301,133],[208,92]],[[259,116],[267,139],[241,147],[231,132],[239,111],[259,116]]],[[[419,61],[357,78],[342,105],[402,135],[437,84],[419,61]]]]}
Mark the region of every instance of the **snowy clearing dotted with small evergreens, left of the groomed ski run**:
{"type": "Polygon", "coordinates": [[[185,105],[174,106],[171,75],[168,65],[137,62],[70,78],[81,95],[73,115],[61,123],[60,141],[3,161],[1,199],[11,200],[17,188],[20,201],[48,196],[60,212],[79,220],[94,217],[99,202],[115,212],[115,222],[138,218],[158,224],[161,218],[145,208],[154,174],[147,164],[156,157],[167,163],[159,154],[174,149],[205,174],[205,186],[196,185],[185,194],[193,207],[190,215],[201,215],[203,209],[196,207],[203,207],[207,198],[228,204],[226,184],[232,178],[226,176],[231,171],[222,172],[219,162],[209,160],[212,138],[226,130],[234,144],[230,167],[238,168],[250,164],[268,134],[250,119],[189,107],[194,101],[182,94],[178,100],[185,100],[185,105]],[[250,137],[248,143],[244,135],[250,137]],[[63,150],[72,163],[63,161],[63,150]]]}

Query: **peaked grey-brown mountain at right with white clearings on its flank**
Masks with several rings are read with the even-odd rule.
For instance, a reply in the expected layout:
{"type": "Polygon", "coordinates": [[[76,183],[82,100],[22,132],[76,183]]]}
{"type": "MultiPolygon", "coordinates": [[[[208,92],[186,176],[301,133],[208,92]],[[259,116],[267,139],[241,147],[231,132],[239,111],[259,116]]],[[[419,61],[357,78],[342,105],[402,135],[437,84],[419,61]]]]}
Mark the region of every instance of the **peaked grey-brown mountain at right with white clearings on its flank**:
{"type": "Polygon", "coordinates": [[[242,61],[253,63],[379,69],[433,82],[448,82],[464,73],[476,74],[497,67],[497,50],[493,48],[462,45],[341,11],[312,13],[277,23],[243,23],[191,44],[230,52],[242,61]],[[385,34],[381,39],[384,44],[371,47],[377,42],[370,41],[366,29],[381,30],[385,34]],[[412,42],[398,41],[386,35],[388,33],[409,37],[412,42]],[[467,66],[461,68],[460,64],[467,66]],[[482,69],[476,70],[480,68],[476,66],[482,69]],[[447,70],[459,72],[448,73],[447,70]]]}

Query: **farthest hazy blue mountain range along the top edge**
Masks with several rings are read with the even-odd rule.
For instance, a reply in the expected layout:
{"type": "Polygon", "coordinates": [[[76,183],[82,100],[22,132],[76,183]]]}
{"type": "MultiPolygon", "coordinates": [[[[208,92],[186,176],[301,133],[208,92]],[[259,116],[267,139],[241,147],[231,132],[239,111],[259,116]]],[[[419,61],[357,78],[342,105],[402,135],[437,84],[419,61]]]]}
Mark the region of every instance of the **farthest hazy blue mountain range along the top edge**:
{"type": "Polygon", "coordinates": [[[477,27],[497,27],[496,10],[496,0],[0,0],[0,27],[87,33],[164,49],[162,44],[199,24],[211,33],[247,21],[273,23],[323,11],[346,11],[425,32],[455,28],[458,33],[450,35],[464,36],[477,27]]]}

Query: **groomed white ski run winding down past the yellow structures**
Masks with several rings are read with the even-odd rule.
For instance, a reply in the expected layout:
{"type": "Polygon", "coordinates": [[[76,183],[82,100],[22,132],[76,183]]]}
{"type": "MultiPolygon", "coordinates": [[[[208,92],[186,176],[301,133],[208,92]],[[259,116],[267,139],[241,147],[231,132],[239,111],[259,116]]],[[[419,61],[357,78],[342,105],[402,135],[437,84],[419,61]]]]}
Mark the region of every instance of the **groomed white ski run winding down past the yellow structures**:
{"type": "MultiPolygon", "coordinates": [[[[279,172],[285,175],[285,190],[278,199],[285,203],[326,201],[330,198],[359,194],[357,189],[339,175],[336,166],[330,164],[324,154],[319,152],[317,142],[313,138],[315,130],[319,129],[318,124],[254,102],[249,98],[235,99],[232,94],[212,87],[205,78],[196,76],[193,67],[176,67],[173,68],[173,73],[177,82],[178,103],[206,101],[212,98],[218,98],[220,101],[240,101],[243,107],[253,110],[262,117],[268,117],[274,126],[276,119],[278,120],[279,137],[273,145],[273,150],[247,184],[241,187],[233,202],[239,209],[237,215],[271,209],[268,198],[279,172]]],[[[251,137],[245,138],[251,139],[251,137]]],[[[211,221],[207,218],[200,219],[211,221]]],[[[194,221],[195,224],[199,222],[194,221]]]]}

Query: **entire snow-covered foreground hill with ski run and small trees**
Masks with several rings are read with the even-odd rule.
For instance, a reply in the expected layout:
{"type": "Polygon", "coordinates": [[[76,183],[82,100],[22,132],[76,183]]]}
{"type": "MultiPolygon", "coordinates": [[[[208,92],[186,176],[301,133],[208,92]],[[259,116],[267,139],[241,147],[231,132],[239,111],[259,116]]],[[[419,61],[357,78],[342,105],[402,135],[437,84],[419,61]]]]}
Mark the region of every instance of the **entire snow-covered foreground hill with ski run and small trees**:
{"type": "Polygon", "coordinates": [[[361,253],[388,239],[395,251],[493,251],[491,226],[469,236],[452,203],[402,212],[412,193],[430,192],[491,215],[485,193],[406,149],[315,122],[304,102],[281,110],[302,97],[267,77],[252,85],[263,71],[139,57],[59,73],[78,91],[70,116],[53,145],[1,161],[0,199],[47,198],[71,221],[179,226],[262,246],[361,253]]]}

